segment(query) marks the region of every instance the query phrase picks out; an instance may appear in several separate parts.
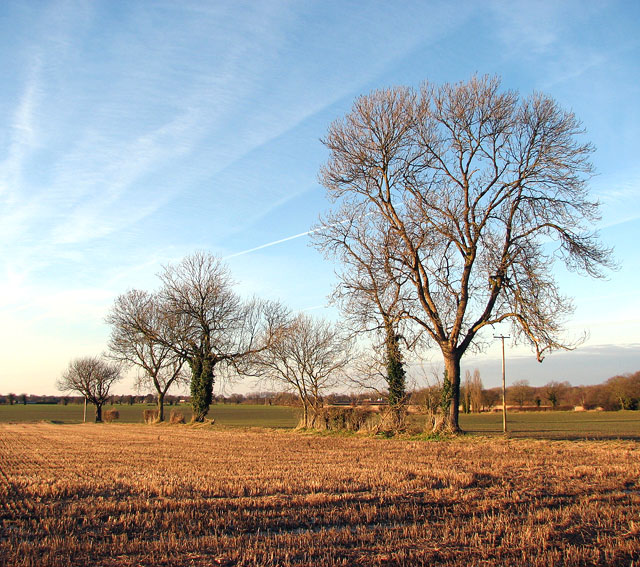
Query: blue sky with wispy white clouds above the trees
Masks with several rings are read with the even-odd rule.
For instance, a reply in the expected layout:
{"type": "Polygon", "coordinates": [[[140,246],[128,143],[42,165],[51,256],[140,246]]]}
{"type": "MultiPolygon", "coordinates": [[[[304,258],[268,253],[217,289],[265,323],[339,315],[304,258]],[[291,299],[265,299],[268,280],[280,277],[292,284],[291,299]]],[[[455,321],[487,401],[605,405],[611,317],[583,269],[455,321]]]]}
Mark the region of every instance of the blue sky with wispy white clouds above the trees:
{"type": "MultiPolygon", "coordinates": [[[[355,97],[473,73],[582,120],[621,265],[608,281],[558,272],[569,333],[589,340],[542,365],[510,348],[510,379],[639,370],[639,24],[635,1],[5,0],[0,392],[55,393],[71,358],[105,349],[114,298],[195,250],[228,257],[243,294],[334,316],[334,266],[307,237],[239,253],[326,210],[320,138],[355,97]]],[[[466,365],[496,385],[497,355],[466,365]]]]}

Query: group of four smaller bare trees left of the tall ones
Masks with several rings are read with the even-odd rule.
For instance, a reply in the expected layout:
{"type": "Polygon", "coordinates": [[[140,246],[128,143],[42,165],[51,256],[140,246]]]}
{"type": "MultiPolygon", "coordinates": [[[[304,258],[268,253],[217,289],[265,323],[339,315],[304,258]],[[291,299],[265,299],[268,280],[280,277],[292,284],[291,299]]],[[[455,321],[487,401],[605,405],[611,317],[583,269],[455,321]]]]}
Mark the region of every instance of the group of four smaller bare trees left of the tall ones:
{"type": "Polygon", "coordinates": [[[158,419],[170,388],[190,385],[193,420],[204,421],[216,373],[254,376],[284,384],[303,408],[302,425],[313,426],[322,394],[335,385],[352,359],[352,342],[329,322],[282,304],[242,300],[222,262],[204,252],[168,265],[155,293],[130,290],[116,298],[106,317],[111,326],[106,359],[71,362],[61,390],[81,393],[96,406],[125,368],[138,369],[138,386],[153,388],[158,419]]]}

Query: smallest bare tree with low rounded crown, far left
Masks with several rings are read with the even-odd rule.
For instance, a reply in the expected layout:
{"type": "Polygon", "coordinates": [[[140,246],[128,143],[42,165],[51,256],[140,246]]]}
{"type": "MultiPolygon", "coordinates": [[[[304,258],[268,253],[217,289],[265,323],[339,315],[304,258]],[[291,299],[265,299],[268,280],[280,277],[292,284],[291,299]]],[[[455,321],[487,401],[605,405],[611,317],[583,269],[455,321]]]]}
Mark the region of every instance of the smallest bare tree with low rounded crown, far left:
{"type": "Polygon", "coordinates": [[[57,381],[58,390],[77,392],[96,406],[96,423],[102,421],[102,406],[111,386],[121,379],[120,367],[98,356],[76,358],[57,381]]]}

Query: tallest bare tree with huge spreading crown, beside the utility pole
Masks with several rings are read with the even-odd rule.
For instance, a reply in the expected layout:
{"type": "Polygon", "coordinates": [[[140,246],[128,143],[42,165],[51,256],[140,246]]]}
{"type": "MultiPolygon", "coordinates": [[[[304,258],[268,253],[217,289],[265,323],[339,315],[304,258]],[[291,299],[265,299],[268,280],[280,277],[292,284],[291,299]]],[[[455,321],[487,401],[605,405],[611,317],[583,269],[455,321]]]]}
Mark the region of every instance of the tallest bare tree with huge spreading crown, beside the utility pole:
{"type": "Polygon", "coordinates": [[[318,238],[333,249],[376,243],[401,289],[400,315],[442,353],[451,383],[442,429],[459,430],[460,360],[487,325],[511,321],[540,361],[574,346],[553,262],[594,277],[611,266],[592,229],[593,148],[582,133],[549,97],[521,99],[487,77],[374,91],[329,127],[320,179],[338,207],[318,238]]]}

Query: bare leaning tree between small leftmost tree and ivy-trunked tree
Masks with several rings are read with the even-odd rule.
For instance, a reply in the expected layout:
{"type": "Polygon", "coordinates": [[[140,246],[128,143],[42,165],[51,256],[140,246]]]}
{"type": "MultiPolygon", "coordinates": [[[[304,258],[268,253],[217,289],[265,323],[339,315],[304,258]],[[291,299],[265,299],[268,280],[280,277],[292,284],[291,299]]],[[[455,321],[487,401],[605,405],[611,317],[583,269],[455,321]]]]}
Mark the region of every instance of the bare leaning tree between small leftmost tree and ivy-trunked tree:
{"type": "Polygon", "coordinates": [[[188,383],[185,359],[174,348],[174,318],[158,296],[131,290],[116,298],[106,321],[112,327],[110,356],[142,370],[137,386],[155,389],[158,421],[164,421],[167,392],[172,386],[188,383]]]}

